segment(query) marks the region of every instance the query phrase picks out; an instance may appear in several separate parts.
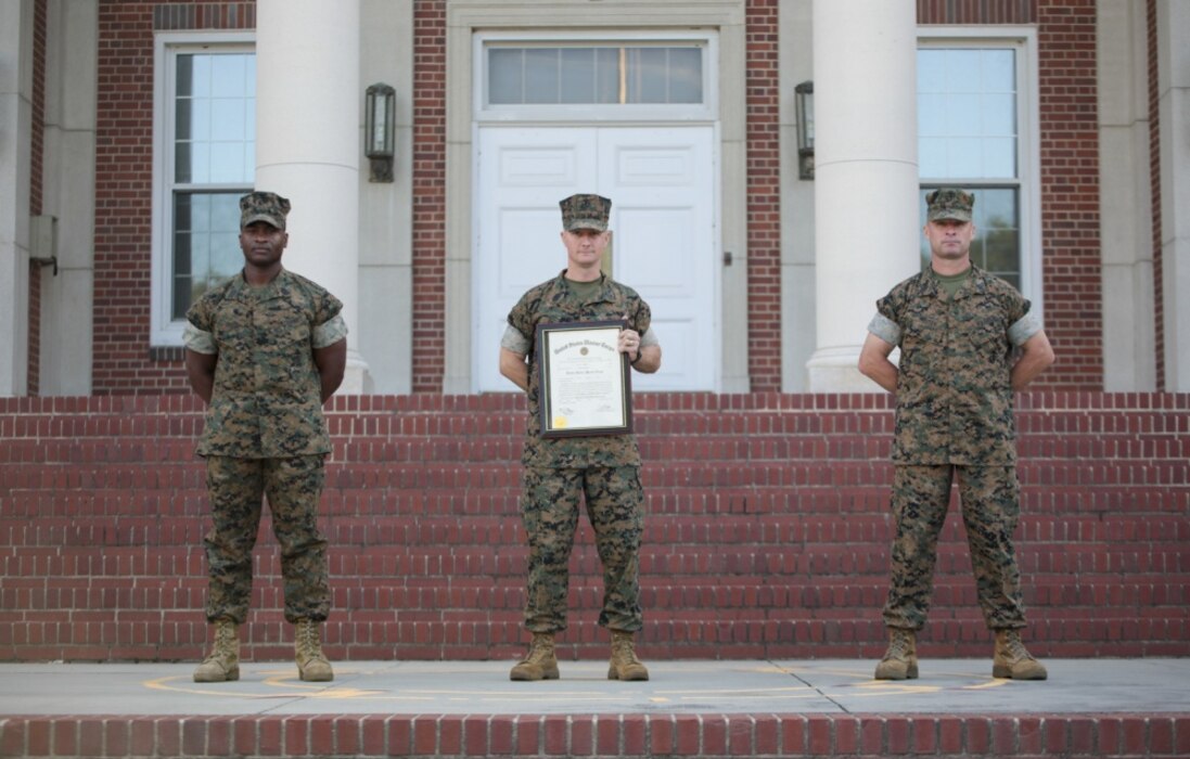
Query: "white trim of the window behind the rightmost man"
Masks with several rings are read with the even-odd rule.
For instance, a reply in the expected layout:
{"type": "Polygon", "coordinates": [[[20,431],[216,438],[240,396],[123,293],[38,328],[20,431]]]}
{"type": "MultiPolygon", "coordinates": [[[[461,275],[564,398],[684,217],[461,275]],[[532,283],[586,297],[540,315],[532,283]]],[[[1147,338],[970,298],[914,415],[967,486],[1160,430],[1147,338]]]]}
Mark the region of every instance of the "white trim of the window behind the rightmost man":
{"type": "MultiPolygon", "coordinates": [[[[1021,293],[1033,302],[1039,318],[1044,318],[1045,301],[1041,284],[1041,119],[1040,68],[1038,65],[1038,34],[1032,26],[919,26],[917,44],[922,48],[971,45],[1015,48],[1017,102],[1019,187],[1021,189],[1021,293]]],[[[979,183],[987,182],[972,177],[979,183]]]]}

